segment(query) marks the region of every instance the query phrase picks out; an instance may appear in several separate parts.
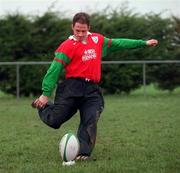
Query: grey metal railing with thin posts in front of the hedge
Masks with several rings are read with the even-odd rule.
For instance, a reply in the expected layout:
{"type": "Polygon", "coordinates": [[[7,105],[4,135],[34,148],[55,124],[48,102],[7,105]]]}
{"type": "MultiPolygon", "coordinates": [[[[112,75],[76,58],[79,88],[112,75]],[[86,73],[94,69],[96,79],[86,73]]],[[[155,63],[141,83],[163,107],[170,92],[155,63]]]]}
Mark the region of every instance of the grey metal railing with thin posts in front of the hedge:
{"type": "MultiPolygon", "coordinates": [[[[29,61],[29,62],[0,62],[0,65],[13,65],[16,66],[16,98],[20,97],[20,66],[23,65],[44,65],[50,64],[49,61],[29,61]]],[[[103,61],[102,64],[142,64],[142,77],[144,95],[146,95],[146,64],[180,64],[180,60],[136,60],[136,61],[103,61]]]]}

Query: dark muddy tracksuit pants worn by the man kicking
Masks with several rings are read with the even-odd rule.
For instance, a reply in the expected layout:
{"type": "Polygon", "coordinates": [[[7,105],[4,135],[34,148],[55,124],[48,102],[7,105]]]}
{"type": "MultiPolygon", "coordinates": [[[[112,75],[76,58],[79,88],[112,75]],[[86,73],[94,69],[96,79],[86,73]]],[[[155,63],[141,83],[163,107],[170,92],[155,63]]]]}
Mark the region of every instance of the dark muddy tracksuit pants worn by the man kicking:
{"type": "Polygon", "coordinates": [[[103,108],[104,100],[97,84],[81,78],[70,78],[58,84],[54,104],[48,103],[40,109],[39,116],[45,124],[57,129],[79,110],[79,155],[90,156],[96,141],[97,122],[103,108]]]}

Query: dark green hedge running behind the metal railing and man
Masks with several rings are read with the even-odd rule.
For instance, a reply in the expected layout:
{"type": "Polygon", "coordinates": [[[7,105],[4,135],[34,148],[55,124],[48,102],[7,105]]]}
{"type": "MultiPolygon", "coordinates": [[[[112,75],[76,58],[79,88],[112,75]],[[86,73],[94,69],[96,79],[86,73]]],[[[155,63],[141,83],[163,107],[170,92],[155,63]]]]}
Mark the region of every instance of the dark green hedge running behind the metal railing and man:
{"type": "MultiPolygon", "coordinates": [[[[103,60],[179,60],[180,19],[161,14],[139,15],[128,9],[91,14],[91,31],[109,38],[147,40],[155,38],[153,48],[112,53],[103,60]]],[[[54,50],[71,34],[71,19],[56,13],[43,16],[7,15],[0,18],[0,61],[52,61],[54,50]]],[[[48,66],[21,66],[21,95],[38,95],[48,66]]],[[[180,85],[178,65],[148,66],[148,83],[173,91],[180,85]]],[[[103,65],[102,88],[106,93],[129,93],[142,84],[140,65],[103,65]]],[[[0,67],[0,90],[15,94],[15,69],[0,67]]],[[[62,77],[61,77],[62,79],[62,77]]]]}

